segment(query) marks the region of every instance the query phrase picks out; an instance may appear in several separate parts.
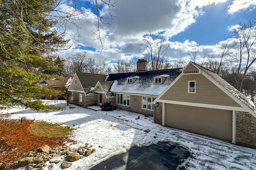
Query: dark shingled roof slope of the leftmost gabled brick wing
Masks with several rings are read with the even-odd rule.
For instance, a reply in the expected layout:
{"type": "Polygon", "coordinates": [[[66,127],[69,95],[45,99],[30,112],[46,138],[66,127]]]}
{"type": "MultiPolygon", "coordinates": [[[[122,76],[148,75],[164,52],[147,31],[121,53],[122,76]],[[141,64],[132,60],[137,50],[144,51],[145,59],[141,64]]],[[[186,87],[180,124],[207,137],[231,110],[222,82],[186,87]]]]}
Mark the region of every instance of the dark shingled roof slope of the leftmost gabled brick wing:
{"type": "Polygon", "coordinates": [[[107,77],[105,74],[92,74],[85,72],[76,72],[78,79],[81,82],[81,85],[84,89],[84,92],[91,92],[98,81],[104,81],[107,77]]]}

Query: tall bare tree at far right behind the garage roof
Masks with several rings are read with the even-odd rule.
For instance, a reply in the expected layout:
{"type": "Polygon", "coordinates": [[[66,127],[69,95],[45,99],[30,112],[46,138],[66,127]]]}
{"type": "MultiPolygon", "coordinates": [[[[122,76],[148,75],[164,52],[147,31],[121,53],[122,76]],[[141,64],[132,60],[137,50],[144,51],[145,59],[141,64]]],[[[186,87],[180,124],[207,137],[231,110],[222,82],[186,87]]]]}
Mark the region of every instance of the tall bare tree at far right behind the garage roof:
{"type": "Polygon", "coordinates": [[[246,72],[256,60],[256,48],[254,47],[254,43],[256,41],[255,25],[256,20],[249,21],[248,23],[239,23],[238,27],[235,27],[232,30],[234,38],[236,38],[238,41],[237,50],[234,53],[234,57],[236,58],[238,67],[234,76],[237,84],[237,89],[239,91],[242,91],[246,72]],[[240,74],[242,75],[242,77],[238,79],[238,75],[240,74]]]}

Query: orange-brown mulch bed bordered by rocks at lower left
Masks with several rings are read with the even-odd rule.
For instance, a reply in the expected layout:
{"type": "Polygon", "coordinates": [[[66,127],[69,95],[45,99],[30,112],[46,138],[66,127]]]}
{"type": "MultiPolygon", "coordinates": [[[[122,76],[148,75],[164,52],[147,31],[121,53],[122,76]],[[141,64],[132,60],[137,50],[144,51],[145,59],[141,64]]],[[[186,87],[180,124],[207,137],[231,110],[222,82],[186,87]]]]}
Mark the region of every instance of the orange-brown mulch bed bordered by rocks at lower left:
{"type": "Polygon", "coordinates": [[[2,119],[0,115],[0,170],[10,169],[18,160],[24,158],[29,151],[34,151],[42,145],[50,148],[65,146],[74,142],[68,137],[38,137],[30,131],[34,120],[2,119]]]}

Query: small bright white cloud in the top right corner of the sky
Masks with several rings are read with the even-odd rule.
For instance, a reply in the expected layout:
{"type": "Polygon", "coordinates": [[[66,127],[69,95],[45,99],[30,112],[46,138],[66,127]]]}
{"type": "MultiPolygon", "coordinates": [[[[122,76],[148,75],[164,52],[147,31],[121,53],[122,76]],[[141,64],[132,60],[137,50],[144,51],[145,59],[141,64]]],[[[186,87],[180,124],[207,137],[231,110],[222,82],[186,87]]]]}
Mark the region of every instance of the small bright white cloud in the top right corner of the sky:
{"type": "Polygon", "coordinates": [[[228,6],[228,13],[233,14],[240,10],[245,10],[249,7],[256,8],[255,0],[234,0],[230,6],[228,6]]]}

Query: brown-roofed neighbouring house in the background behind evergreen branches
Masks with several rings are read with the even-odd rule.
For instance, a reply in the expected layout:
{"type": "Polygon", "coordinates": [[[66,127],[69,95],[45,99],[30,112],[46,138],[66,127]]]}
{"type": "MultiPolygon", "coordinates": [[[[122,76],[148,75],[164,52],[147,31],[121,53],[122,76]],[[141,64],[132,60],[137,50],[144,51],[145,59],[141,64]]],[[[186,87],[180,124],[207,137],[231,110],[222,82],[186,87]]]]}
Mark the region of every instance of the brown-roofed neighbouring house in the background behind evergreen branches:
{"type": "Polygon", "coordinates": [[[65,92],[68,90],[68,87],[70,86],[70,82],[72,81],[72,77],[60,77],[58,79],[50,79],[50,80],[42,80],[42,82],[39,83],[40,86],[47,86],[48,88],[54,89],[54,90],[60,90],[63,91],[62,95],[52,95],[52,94],[41,94],[42,99],[65,99],[66,94],[65,92]]]}

